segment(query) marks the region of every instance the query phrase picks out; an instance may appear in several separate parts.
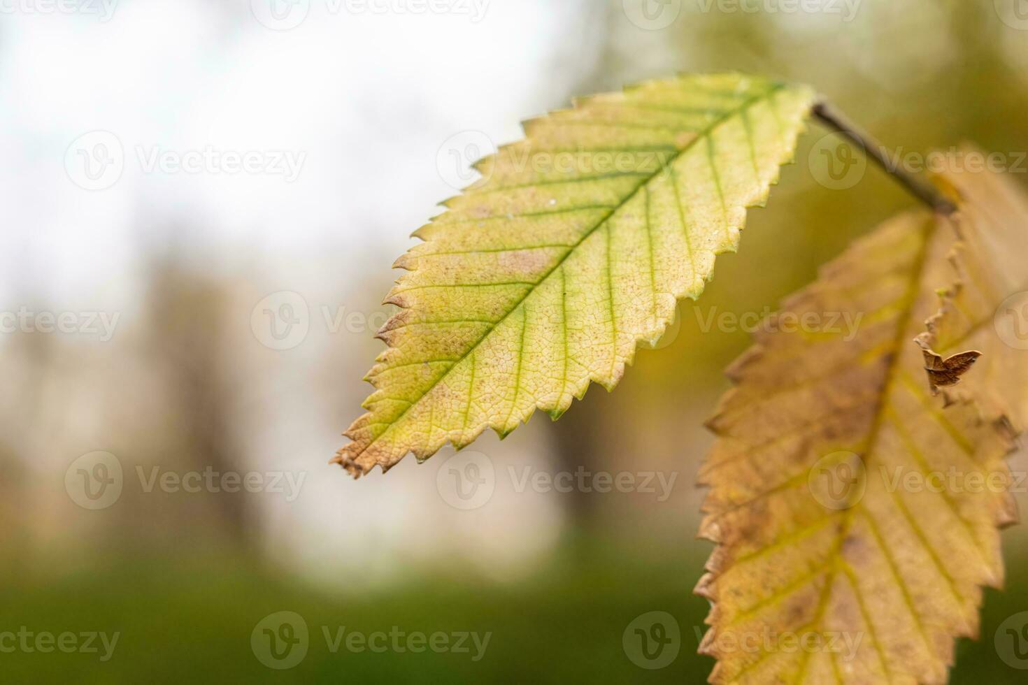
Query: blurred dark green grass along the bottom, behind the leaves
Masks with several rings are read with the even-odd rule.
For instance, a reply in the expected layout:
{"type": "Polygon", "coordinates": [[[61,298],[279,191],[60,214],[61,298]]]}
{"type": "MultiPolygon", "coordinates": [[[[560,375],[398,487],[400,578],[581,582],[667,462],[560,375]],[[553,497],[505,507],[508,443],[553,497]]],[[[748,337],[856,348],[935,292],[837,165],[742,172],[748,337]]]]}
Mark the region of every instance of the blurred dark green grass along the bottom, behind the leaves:
{"type": "MultiPolygon", "coordinates": [[[[243,559],[194,556],[121,559],[60,580],[8,577],[0,591],[0,629],[120,632],[113,657],[97,654],[0,654],[0,681],[138,683],[702,683],[712,661],[696,654],[706,602],[692,595],[705,543],[678,550],[641,538],[615,546],[573,540],[552,561],[514,583],[436,571],[395,589],[359,595],[319,592],[243,559]],[[691,554],[690,554],[691,553],[691,554]],[[250,635],[264,616],[295,611],[310,647],[289,671],[263,667],[250,635]],[[649,611],[674,615],[682,648],[667,668],[647,671],[622,649],[622,634],[649,611]],[[322,626],[407,633],[491,632],[484,658],[453,653],[331,653],[322,626]]],[[[952,682],[1023,683],[1005,665],[992,636],[1028,607],[1022,560],[1011,563],[1014,593],[990,592],[983,640],[961,641],[952,682]],[[1021,609],[1019,609],[1020,607],[1021,609]]]]}

